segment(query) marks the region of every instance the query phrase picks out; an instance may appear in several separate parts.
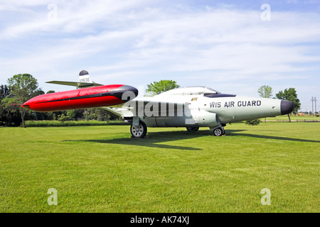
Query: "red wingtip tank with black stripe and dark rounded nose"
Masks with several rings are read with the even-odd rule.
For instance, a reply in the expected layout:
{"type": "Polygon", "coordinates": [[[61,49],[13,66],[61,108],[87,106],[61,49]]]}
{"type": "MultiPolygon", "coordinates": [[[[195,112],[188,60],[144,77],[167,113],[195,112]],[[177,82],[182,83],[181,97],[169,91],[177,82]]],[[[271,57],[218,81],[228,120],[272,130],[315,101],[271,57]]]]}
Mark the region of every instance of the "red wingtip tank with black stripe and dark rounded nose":
{"type": "Polygon", "coordinates": [[[123,104],[134,99],[138,90],[123,84],[104,85],[67,92],[42,94],[21,106],[31,111],[50,112],[123,104]]]}

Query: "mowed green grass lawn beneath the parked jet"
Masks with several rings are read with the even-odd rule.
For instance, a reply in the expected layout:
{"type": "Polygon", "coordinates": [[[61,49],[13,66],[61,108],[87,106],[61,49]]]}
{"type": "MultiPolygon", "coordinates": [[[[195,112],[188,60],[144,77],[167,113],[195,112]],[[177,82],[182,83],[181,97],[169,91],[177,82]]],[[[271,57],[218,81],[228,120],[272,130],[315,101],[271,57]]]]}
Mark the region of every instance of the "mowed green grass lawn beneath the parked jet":
{"type": "Polygon", "coordinates": [[[225,129],[0,128],[0,212],[320,211],[320,123],[225,129]]]}

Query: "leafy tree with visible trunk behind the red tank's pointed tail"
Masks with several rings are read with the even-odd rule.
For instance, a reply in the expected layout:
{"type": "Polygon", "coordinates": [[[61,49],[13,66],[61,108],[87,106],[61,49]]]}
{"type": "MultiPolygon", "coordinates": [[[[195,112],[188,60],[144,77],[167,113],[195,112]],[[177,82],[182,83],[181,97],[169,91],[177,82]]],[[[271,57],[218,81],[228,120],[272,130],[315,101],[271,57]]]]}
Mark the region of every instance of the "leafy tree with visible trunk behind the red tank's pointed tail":
{"type": "MultiPolygon", "coordinates": [[[[18,104],[23,104],[34,96],[44,94],[44,92],[38,88],[36,78],[31,76],[31,74],[16,74],[14,77],[8,79],[8,84],[9,89],[11,90],[11,95],[18,104]]],[[[20,109],[20,112],[23,128],[26,128],[26,124],[24,122],[26,109],[20,109]]]]}

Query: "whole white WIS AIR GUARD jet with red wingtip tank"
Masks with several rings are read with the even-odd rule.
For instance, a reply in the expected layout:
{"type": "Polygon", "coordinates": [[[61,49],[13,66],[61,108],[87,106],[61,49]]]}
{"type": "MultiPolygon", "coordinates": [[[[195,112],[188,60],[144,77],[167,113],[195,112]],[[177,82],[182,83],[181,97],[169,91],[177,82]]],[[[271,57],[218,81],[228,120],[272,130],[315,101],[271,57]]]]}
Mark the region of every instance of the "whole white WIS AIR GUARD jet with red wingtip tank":
{"type": "Polygon", "coordinates": [[[131,125],[133,138],[144,138],[147,127],[186,127],[191,132],[209,127],[213,135],[221,136],[227,123],[279,116],[294,110],[291,101],[221,94],[204,86],[181,87],[139,98],[134,87],[92,82],[86,70],[80,72],[79,82],[48,83],[79,89],[36,96],[22,107],[32,111],[100,107],[122,116],[131,125]]]}

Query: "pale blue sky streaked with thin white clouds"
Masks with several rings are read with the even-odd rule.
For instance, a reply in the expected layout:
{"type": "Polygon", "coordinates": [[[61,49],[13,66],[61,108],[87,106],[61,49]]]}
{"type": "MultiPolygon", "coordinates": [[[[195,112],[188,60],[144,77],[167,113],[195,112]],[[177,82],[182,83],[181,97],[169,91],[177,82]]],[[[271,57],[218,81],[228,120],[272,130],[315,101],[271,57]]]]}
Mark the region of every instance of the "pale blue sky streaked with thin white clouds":
{"type": "Polygon", "coordinates": [[[320,0],[0,0],[0,84],[32,74],[46,84],[146,84],[273,96],[293,87],[302,111],[320,111],[320,0]]]}

